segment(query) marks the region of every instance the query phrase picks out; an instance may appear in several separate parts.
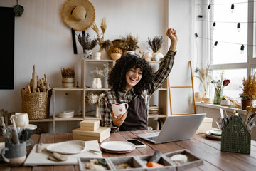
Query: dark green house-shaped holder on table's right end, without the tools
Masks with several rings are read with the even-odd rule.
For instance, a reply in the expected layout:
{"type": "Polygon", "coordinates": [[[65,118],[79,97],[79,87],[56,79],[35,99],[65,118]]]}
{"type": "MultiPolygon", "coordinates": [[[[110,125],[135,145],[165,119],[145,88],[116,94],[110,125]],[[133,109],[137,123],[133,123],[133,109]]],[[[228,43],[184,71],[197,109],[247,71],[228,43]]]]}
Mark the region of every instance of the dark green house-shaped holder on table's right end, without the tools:
{"type": "Polygon", "coordinates": [[[221,133],[221,151],[250,154],[251,135],[241,119],[235,116],[221,133]]]}

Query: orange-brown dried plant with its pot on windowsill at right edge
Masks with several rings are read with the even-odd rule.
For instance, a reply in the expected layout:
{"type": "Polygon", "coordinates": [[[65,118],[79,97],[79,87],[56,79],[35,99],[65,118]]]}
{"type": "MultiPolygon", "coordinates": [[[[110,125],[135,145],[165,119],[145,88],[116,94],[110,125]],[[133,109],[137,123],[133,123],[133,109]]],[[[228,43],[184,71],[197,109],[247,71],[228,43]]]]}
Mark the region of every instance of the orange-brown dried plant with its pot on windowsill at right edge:
{"type": "Polygon", "coordinates": [[[246,106],[251,105],[256,98],[256,76],[255,74],[249,75],[242,80],[242,93],[240,93],[242,110],[246,109],[246,106]]]}

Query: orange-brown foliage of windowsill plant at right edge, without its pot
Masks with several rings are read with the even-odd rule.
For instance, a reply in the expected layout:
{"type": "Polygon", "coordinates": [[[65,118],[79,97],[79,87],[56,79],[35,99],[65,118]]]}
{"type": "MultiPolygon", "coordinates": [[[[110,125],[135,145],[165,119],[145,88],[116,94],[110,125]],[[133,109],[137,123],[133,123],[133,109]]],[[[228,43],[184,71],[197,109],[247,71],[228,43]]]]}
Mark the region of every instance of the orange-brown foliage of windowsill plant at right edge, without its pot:
{"type": "Polygon", "coordinates": [[[247,78],[242,79],[242,93],[240,98],[242,100],[255,100],[256,99],[256,76],[255,74],[249,75],[247,78]]]}

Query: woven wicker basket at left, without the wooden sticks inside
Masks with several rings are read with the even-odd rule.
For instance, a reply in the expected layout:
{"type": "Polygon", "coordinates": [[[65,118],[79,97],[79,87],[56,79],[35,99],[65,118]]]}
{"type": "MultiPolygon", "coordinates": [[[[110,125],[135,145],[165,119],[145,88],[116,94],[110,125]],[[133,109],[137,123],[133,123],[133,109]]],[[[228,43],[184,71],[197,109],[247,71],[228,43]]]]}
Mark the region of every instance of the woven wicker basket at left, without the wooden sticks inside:
{"type": "Polygon", "coordinates": [[[22,93],[21,100],[23,113],[28,113],[30,120],[45,119],[50,113],[50,96],[52,89],[49,88],[46,92],[22,93]]]}

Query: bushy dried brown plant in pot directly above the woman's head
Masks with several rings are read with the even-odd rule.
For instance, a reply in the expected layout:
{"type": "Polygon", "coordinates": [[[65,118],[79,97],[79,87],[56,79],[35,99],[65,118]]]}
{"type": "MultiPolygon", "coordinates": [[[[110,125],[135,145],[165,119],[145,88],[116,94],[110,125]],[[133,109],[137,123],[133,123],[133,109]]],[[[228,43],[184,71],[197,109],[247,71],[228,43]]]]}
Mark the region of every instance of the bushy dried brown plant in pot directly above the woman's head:
{"type": "Polygon", "coordinates": [[[132,36],[128,34],[125,38],[122,38],[122,42],[119,44],[119,47],[124,53],[135,53],[138,46],[138,36],[132,36]]]}

